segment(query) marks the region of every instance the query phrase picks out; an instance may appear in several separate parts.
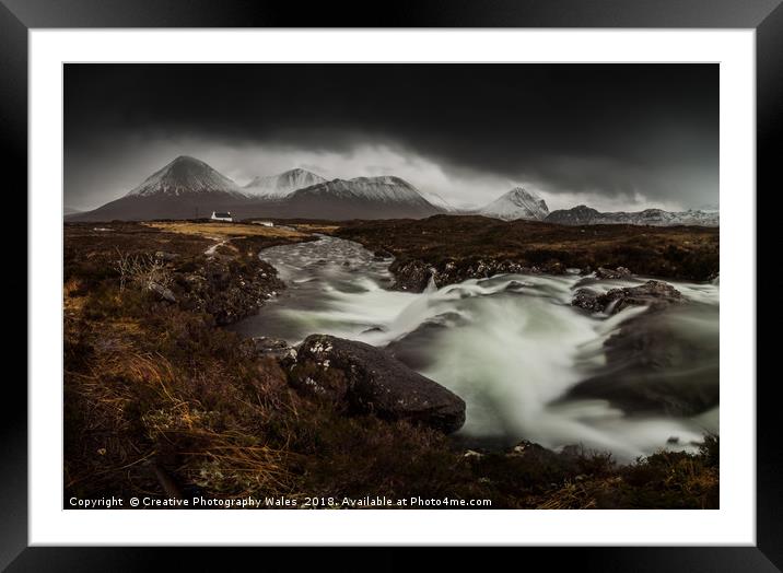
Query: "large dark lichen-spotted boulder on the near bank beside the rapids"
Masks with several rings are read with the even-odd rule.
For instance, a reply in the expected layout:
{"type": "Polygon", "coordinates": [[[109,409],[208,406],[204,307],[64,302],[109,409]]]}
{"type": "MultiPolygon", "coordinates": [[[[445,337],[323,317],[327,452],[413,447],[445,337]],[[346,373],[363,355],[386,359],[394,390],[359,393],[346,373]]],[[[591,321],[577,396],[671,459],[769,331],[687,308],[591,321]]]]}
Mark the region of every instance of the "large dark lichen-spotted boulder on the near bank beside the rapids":
{"type": "Polygon", "coordinates": [[[346,412],[409,420],[445,433],[465,423],[465,401],[459,396],[363,342],[307,337],[291,369],[291,384],[346,412]]]}

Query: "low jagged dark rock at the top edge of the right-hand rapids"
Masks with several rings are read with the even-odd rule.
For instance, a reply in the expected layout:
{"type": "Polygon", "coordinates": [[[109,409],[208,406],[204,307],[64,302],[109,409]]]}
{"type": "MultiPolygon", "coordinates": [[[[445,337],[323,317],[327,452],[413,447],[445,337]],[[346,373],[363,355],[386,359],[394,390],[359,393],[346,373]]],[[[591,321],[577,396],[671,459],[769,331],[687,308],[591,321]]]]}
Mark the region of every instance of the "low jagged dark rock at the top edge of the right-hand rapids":
{"type": "Polygon", "coordinates": [[[611,289],[598,294],[589,289],[579,289],[571,304],[594,313],[606,312],[616,314],[629,306],[647,306],[651,309],[663,309],[671,304],[685,302],[682,293],[663,281],[648,280],[639,286],[611,289]]]}

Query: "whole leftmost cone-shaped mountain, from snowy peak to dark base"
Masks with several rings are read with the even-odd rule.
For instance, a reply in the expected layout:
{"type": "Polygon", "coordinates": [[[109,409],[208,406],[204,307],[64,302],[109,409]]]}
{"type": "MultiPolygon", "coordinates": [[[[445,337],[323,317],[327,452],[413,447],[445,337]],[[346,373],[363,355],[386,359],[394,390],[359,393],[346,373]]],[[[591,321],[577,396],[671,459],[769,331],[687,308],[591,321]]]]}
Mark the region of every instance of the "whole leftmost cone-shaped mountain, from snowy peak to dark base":
{"type": "Polygon", "coordinates": [[[144,221],[195,219],[212,211],[242,209],[250,199],[225,175],[195,157],[179,156],[144,179],[125,197],[68,221],[144,221]]]}

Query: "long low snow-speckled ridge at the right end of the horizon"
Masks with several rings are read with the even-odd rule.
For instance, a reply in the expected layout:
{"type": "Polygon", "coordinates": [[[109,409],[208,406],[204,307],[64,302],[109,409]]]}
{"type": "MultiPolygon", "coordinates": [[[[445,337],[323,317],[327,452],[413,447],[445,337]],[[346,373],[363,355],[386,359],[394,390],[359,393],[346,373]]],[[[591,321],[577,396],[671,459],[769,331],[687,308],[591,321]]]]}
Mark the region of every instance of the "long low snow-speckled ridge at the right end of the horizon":
{"type": "Polygon", "coordinates": [[[546,219],[547,223],[561,225],[699,225],[718,226],[720,213],[717,211],[664,211],[663,209],[645,209],[644,211],[616,211],[601,213],[587,206],[580,204],[573,209],[552,211],[546,219]]]}

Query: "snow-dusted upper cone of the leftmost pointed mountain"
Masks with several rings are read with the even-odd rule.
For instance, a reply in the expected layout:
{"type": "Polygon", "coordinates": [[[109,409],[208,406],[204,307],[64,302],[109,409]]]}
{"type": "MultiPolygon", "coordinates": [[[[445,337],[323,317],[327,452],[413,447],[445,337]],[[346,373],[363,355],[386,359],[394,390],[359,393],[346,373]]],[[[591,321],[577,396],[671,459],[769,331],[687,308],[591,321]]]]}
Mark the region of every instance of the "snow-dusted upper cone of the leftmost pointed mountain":
{"type": "Polygon", "coordinates": [[[180,155],[156,171],[126,197],[170,196],[185,194],[224,192],[244,197],[242,188],[225,175],[218,173],[203,161],[180,155]]]}

